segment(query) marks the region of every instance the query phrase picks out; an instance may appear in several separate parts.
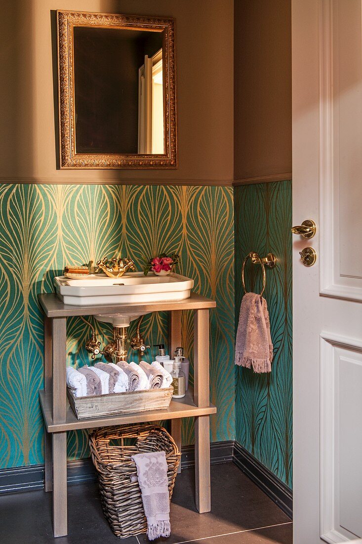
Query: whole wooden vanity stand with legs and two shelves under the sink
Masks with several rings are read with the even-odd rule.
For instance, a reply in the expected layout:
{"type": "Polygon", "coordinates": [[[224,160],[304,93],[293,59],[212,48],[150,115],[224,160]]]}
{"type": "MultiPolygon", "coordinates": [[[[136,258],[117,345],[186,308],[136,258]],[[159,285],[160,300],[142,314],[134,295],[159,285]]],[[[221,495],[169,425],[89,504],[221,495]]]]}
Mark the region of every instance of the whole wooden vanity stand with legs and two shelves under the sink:
{"type": "Polygon", "coordinates": [[[191,293],[176,302],[108,306],[70,306],[55,294],[39,295],[45,313],[44,390],[39,398],[45,421],[45,491],[53,490],[54,536],[67,534],[67,431],[171,419],[171,433],[181,450],[181,418],[195,417],[196,508],[209,512],[210,435],[209,417],[216,413],[209,396],[209,308],[216,302],[191,293]],[[172,399],[167,410],[149,410],[120,416],[79,420],[66,396],[66,318],[109,313],[169,312],[168,349],[172,354],[181,341],[181,310],[194,310],[194,382],[183,399],[172,399]]]}

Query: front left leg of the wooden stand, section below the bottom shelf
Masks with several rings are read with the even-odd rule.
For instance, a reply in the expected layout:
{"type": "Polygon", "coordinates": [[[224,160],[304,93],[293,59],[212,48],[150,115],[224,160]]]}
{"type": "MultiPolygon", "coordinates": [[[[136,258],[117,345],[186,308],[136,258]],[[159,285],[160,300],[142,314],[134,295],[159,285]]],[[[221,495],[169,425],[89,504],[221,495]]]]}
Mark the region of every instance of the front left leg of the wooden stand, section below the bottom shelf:
{"type": "Polygon", "coordinates": [[[67,530],[67,433],[53,432],[53,531],[65,536],[67,530]]]}

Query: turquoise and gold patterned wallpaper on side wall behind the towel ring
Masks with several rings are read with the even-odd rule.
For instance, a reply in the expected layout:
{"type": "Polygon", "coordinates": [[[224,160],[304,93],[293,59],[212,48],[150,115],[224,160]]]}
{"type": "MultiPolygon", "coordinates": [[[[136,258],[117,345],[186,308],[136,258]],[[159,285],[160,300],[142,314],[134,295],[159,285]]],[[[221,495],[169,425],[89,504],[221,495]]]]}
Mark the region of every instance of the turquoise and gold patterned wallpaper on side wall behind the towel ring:
{"type": "MultiPolygon", "coordinates": [[[[235,439],[292,486],[292,191],[291,181],[236,187],[235,323],[242,295],[241,264],[250,251],[272,251],[266,270],[274,360],[271,374],[235,368],[235,439]]],[[[249,288],[260,289],[260,268],[248,268],[249,288]]]]}

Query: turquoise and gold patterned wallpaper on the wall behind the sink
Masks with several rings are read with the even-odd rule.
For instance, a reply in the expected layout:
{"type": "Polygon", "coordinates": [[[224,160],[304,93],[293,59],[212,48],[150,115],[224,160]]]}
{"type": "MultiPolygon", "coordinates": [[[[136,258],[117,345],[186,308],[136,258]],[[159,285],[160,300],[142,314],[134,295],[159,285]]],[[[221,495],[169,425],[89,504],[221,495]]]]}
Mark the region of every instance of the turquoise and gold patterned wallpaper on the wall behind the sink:
{"type": "MultiPolygon", "coordinates": [[[[43,321],[37,295],[52,292],[53,277],[65,264],[104,255],[128,254],[141,269],[146,257],[180,252],[180,273],[194,278],[195,292],[216,299],[210,312],[210,394],[218,413],[211,418],[211,440],[234,438],[231,188],[4,184],[0,215],[0,468],[43,462],[43,321]]],[[[95,324],[107,341],[109,327],[95,324]]],[[[145,316],[142,331],[149,344],[166,343],[166,314],[145,316]]],[[[72,318],[67,332],[68,363],[88,362],[88,327],[72,318]]],[[[192,361],[190,312],[183,313],[182,334],[192,361]]],[[[68,433],[70,459],[88,455],[86,438],[85,432],[68,433]]],[[[191,420],[183,420],[183,442],[192,441],[191,420]]]]}

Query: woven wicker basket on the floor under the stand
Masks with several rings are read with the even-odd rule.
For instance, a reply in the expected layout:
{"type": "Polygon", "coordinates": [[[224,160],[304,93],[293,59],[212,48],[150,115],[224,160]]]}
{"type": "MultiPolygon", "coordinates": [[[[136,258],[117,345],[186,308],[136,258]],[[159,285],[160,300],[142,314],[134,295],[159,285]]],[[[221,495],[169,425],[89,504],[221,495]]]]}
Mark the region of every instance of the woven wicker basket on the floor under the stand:
{"type": "Polygon", "coordinates": [[[89,436],[92,461],[96,467],[102,508],[114,534],[120,538],[146,533],[136,464],[136,453],[166,453],[170,500],[180,452],[166,429],[154,424],[122,425],[93,431],[89,436]],[[134,478],[132,478],[134,479],[134,478]]]}

